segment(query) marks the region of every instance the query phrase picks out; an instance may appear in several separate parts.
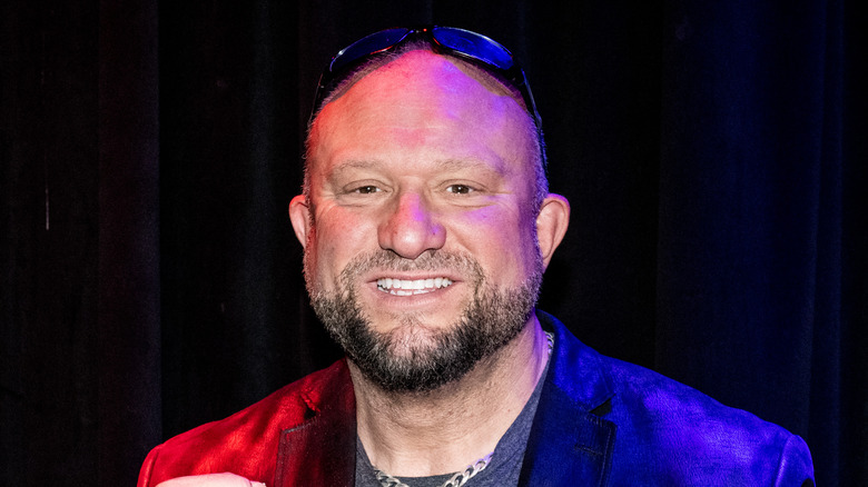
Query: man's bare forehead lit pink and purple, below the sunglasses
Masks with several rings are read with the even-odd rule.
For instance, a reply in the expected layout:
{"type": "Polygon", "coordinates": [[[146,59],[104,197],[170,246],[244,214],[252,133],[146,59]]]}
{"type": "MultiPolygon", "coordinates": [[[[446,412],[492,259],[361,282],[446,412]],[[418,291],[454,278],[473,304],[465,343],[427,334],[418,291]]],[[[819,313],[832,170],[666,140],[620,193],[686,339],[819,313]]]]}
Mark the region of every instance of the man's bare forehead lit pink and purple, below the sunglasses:
{"type": "MultiPolygon", "coordinates": [[[[426,50],[410,51],[356,80],[314,121],[308,156],[335,143],[421,143],[453,138],[455,148],[483,143],[527,163],[533,122],[521,97],[479,68],[426,50]],[[395,140],[392,140],[395,141],[395,140]]],[[[441,140],[443,142],[443,140],[441,140]]]]}

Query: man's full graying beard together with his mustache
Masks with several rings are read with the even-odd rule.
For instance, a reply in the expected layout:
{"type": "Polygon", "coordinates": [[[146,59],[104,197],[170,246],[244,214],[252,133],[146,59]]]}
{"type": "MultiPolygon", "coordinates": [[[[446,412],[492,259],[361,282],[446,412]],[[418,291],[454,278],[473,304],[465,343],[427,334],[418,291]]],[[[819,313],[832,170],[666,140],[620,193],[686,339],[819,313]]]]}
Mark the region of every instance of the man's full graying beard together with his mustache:
{"type": "MultiPolygon", "coordinates": [[[[466,254],[428,251],[415,260],[381,250],[354,258],[341,272],[337,290],[325,292],[305,277],[310,304],[329,335],[349,360],[388,392],[425,392],[464,377],[482,359],[515,338],[527,322],[542,284],[543,265],[539,250],[531,275],[514,288],[497,289],[486,284],[482,267],[466,254]],[[396,352],[401,346],[395,332],[375,331],[363,312],[355,284],[371,269],[411,271],[456,269],[468,276],[473,296],[452,326],[435,332],[423,344],[396,352]]],[[[418,326],[418,317],[401,318],[402,328],[418,326]]]]}

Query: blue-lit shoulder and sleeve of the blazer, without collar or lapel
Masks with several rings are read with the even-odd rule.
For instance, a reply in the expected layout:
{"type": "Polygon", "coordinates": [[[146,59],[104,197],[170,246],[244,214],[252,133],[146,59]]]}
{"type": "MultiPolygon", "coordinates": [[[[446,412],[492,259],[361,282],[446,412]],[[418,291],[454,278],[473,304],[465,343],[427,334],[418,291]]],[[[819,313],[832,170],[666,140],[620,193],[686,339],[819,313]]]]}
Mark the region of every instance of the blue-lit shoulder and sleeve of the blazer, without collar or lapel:
{"type": "MultiPolygon", "coordinates": [[[[696,477],[706,471],[719,485],[812,485],[810,451],[800,437],[653,370],[602,360],[615,389],[608,419],[618,425],[618,441],[665,458],[679,483],[711,481],[696,477]]],[[[650,459],[642,457],[631,463],[650,459]]]]}

